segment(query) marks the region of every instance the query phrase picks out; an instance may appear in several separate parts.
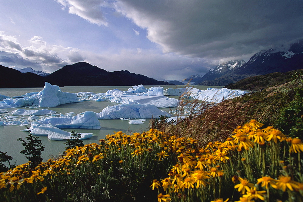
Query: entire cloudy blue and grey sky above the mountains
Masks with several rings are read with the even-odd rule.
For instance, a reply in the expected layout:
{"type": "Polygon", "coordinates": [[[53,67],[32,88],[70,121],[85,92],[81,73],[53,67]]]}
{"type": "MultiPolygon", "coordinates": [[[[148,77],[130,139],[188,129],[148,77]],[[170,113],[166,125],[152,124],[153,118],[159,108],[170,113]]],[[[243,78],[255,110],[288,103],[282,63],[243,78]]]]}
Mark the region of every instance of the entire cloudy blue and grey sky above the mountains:
{"type": "MultiPolygon", "coordinates": [[[[0,65],[204,75],[303,38],[302,0],[0,0],[0,65]]],[[[277,50],[278,50],[277,49],[277,50]]]]}

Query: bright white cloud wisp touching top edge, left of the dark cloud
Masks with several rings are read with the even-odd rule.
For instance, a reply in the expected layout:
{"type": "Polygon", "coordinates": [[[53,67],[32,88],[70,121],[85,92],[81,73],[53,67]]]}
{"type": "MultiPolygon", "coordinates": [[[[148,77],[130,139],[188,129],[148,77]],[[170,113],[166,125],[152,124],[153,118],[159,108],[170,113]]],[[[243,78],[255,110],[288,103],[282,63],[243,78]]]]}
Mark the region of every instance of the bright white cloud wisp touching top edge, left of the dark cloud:
{"type": "Polygon", "coordinates": [[[108,23],[101,8],[106,6],[102,0],[55,0],[64,8],[68,8],[70,14],[76,14],[92,24],[105,25],[108,23]]]}

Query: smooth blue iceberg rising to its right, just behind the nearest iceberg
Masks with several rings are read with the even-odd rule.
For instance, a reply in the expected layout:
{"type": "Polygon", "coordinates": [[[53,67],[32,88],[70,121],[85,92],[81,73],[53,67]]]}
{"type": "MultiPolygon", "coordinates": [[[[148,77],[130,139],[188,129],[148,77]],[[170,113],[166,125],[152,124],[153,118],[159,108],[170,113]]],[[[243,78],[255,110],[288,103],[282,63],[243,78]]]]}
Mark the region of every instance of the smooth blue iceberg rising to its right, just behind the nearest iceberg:
{"type": "Polygon", "coordinates": [[[72,117],[47,117],[44,120],[38,120],[40,123],[52,123],[58,128],[87,128],[100,129],[100,122],[93,111],[85,111],[72,117]]]}

